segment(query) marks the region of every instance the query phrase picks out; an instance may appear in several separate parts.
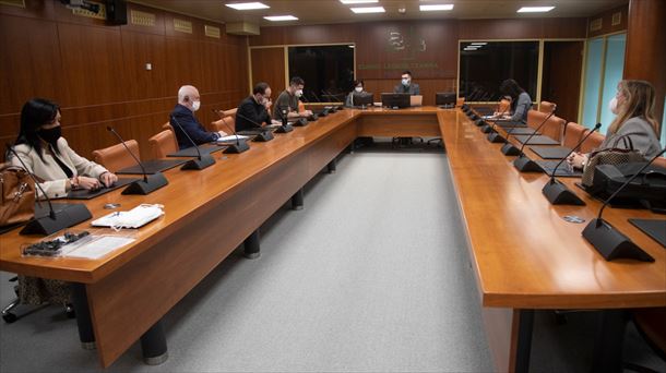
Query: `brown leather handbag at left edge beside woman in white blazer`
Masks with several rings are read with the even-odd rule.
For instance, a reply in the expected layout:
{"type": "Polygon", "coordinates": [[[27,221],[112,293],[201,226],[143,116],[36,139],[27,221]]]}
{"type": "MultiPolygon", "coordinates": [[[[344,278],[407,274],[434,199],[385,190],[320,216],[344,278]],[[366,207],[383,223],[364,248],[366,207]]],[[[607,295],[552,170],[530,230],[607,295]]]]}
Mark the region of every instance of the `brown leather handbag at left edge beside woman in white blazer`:
{"type": "Polygon", "coordinates": [[[0,164],[0,227],[27,221],[35,216],[35,181],[17,166],[0,164]]]}

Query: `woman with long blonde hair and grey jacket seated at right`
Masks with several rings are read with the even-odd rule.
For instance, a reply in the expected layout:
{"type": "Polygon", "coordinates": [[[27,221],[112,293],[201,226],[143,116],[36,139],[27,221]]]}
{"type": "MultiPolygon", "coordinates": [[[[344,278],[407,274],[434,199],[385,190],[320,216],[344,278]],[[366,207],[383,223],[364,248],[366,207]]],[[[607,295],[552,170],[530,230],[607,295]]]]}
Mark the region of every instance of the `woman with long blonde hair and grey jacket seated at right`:
{"type": "MultiPolygon", "coordinates": [[[[655,92],[652,84],[645,81],[620,81],[618,92],[608,106],[617,117],[610,123],[599,149],[627,148],[629,143],[620,139],[628,137],[633,148],[646,158],[659,152],[659,124],[654,117],[655,92]]],[[[573,153],[567,161],[571,167],[582,169],[588,159],[590,154],[573,153]]]]}

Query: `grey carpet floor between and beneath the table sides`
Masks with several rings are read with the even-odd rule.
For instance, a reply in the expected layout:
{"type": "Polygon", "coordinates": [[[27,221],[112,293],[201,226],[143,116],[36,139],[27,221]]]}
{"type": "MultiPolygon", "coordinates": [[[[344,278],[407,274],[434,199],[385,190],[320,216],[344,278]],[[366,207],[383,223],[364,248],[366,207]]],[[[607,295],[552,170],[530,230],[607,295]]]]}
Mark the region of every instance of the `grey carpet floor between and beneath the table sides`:
{"type": "MultiPolygon", "coordinates": [[[[346,155],[307,185],[304,210],[285,205],[264,224],[259,260],[240,249],[165,316],[167,362],[144,365],[135,344],[107,371],[492,370],[441,152],[346,155]]],[[[0,274],[0,304],[13,298],[10,276],[0,274]]],[[[591,317],[562,326],[538,312],[532,370],[587,371],[591,317]]],[[[655,363],[641,344],[633,354],[655,363]]],[[[0,371],[102,370],[75,322],[47,306],[0,323],[0,371]]]]}

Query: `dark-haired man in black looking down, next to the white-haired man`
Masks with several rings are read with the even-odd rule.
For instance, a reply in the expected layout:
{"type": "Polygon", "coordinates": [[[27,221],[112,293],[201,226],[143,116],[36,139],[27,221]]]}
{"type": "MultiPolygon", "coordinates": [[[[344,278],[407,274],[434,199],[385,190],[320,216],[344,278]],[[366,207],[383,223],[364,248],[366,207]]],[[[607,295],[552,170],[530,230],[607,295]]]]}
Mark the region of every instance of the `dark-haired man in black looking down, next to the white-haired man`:
{"type": "Polygon", "coordinates": [[[236,131],[247,131],[265,124],[280,124],[271,120],[271,87],[269,83],[257,83],[252,96],[243,99],[236,111],[236,131]],[[275,122],[275,123],[273,123],[275,122]]]}

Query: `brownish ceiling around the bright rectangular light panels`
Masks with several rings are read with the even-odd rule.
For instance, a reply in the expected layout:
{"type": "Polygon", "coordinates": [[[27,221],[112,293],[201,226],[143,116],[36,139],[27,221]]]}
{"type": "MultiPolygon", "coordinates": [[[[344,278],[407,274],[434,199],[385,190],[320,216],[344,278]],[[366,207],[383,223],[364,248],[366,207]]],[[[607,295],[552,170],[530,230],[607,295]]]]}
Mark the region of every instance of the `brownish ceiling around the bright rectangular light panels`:
{"type": "MultiPolygon", "coordinates": [[[[432,20],[432,19],[519,19],[519,17],[587,17],[618,5],[627,4],[629,0],[379,0],[385,13],[354,14],[338,0],[129,0],[153,8],[164,9],[192,15],[200,19],[233,23],[250,22],[260,26],[294,25],[294,24],[326,24],[348,23],[381,20],[432,20]],[[260,1],[270,9],[237,11],[225,7],[225,3],[260,1]],[[453,3],[452,11],[420,12],[419,4],[453,3]],[[547,13],[516,13],[521,7],[555,5],[547,13]],[[404,8],[405,14],[399,9],[404,8]],[[298,21],[270,22],[264,15],[297,16],[298,21]]],[[[378,5],[354,5],[369,7],[378,5]]]]}

